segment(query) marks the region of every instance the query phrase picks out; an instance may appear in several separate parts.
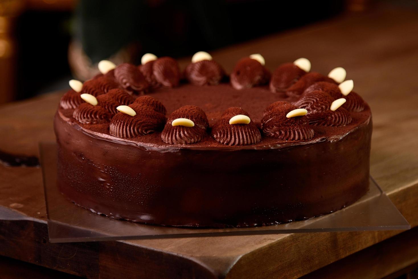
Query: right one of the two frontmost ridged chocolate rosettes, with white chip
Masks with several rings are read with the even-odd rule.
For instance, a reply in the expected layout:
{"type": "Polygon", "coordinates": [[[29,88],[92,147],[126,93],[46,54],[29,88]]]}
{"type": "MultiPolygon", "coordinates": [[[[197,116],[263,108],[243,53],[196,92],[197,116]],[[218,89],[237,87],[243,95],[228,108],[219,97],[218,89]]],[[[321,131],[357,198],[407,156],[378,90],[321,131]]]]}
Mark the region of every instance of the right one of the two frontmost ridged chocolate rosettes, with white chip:
{"type": "Polygon", "coordinates": [[[225,110],[212,127],[212,137],[224,145],[252,145],[261,140],[257,126],[239,107],[225,110]]]}

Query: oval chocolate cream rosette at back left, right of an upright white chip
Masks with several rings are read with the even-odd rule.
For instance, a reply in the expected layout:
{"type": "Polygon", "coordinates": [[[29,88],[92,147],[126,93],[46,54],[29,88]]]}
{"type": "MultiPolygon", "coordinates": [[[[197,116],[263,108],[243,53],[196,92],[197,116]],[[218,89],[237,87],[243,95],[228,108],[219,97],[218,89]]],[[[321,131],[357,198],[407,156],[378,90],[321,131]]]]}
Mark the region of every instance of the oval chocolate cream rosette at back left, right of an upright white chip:
{"type": "Polygon", "coordinates": [[[138,67],[123,63],[115,68],[115,78],[130,94],[140,95],[148,90],[148,81],[138,67]]]}

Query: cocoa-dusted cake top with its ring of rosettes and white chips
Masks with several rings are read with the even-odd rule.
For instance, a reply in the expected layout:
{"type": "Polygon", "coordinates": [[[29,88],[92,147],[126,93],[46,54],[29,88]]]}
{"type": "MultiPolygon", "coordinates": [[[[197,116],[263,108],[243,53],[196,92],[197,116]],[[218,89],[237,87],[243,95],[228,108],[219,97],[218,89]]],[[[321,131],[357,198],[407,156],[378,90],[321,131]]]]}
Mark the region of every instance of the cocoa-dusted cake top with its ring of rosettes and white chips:
{"type": "Polygon", "coordinates": [[[204,60],[194,57],[183,73],[168,57],[151,57],[140,66],[108,63],[104,70],[99,63],[101,75],[84,84],[70,81],[58,115],[93,137],[162,151],[333,141],[371,119],[370,107],[352,92],[352,81],[344,81],[345,70],[332,70],[332,78],[306,73],[310,63],[298,59],[270,74],[264,59],[252,56],[238,61],[229,78],[210,55],[201,56],[204,60]],[[283,104],[272,110],[277,101],[283,104]],[[237,115],[232,120],[229,113],[229,121],[225,112],[237,115]],[[302,132],[295,123],[303,123],[302,132]]]}

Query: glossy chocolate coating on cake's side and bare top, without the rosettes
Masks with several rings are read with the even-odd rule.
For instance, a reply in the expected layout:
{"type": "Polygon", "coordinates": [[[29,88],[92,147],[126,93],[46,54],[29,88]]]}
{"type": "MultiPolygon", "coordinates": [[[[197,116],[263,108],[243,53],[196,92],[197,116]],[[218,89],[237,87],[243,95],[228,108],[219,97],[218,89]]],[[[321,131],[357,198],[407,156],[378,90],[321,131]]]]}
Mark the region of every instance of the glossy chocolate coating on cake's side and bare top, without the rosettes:
{"type": "MultiPolygon", "coordinates": [[[[183,85],[152,94],[168,113],[193,104],[209,126],[228,107],[242,107],[258,127],[280,96],[267,86],[237,91],[183,85]]],[[[119,139],[109,124],[86,125],[59,109],[59,188],[96,213],[171,226],[258,226],[311,218],[343,208],[369,187],[370,108],[350,112],[344,127],[311,126],[315,135],[287,142],[262,135],[255,145],[225,146],[209,134],[169,145],[161,132],[119,139]]]]}

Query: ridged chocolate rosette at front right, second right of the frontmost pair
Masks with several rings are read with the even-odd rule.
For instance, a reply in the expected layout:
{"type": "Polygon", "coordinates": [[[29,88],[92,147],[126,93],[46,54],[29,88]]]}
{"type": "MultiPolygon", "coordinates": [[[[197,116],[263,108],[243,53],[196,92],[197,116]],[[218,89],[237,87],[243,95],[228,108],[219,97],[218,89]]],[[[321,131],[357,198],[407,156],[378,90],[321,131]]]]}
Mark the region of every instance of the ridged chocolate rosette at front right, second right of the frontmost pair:
{"type": "Polygon", "coordinates": [[[334,100],[325,91],[312,91],[293,103],[296,107],[306,109],[309,124],[322,126],[345,126],[352,118],[344,109],[345,99],[334,100]]]}

